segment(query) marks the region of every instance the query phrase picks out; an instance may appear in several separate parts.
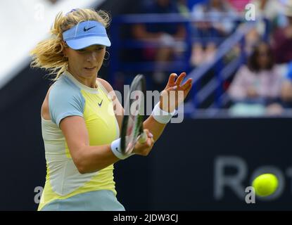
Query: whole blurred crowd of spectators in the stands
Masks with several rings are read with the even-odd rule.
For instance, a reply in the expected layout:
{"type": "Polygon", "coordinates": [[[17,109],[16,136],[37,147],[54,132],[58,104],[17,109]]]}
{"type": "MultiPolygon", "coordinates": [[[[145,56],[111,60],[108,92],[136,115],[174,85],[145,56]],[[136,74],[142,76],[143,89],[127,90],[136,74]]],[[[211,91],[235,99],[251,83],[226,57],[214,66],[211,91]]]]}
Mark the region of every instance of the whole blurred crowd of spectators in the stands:
{"type": "Polygon", "coordinates": [[[163,88],[169,75],[162,62],[182,57],[185,49],[184,45],[177,44],[179,41],[191,36],[188,62],[191,70],[212,63],[222,41],[234,34],[237,27],[249,23],[244,19],[246,6],[253,4],[255,26],[246,34],[244,47],[231,46],[230,56],[227,55],[236,57],[245,51],[246,60],[224,84],[224,91],[232,107],[256,105],[272,113],[291,108],[292,1],[143,0],[140,3],[135,13],[179,13],[196,20],[190,29],[184,23],[137,23],[132,26],[134,39],[158,44],[146,46],[141,51],[143,60],[156,62],[151,76],[157,89],[163,88]]]}

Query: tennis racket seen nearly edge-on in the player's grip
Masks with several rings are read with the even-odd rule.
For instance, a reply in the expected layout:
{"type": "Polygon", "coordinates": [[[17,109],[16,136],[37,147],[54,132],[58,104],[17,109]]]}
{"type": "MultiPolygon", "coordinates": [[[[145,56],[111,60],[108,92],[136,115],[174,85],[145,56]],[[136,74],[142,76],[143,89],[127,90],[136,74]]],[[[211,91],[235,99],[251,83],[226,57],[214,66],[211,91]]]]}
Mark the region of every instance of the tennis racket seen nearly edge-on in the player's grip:
{"type": "Polygon", "coordinates": [[[120,149],[122,154],[132,153],[137,141],[145,143],[147,134],[144,132],[144,96],[146,96],[146,81],[144,75],[134,77],[125,101],[125,113],[122,120],[120,149]]]}

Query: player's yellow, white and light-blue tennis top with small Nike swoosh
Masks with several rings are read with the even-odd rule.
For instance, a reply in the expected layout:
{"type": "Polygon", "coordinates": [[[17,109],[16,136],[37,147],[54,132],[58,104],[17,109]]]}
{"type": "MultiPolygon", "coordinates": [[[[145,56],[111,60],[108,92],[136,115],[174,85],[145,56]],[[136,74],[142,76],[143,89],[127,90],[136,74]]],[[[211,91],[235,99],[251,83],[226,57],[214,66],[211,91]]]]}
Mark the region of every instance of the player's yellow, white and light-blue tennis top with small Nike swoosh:
{"type": "Polygon", "coordinates": [[[101,146],[118,139],[120,130],[108,92],[96,79],[98,88],[80,83],[64,72],[49,93],[51,120],[42,118],[42,136],[46,153],[46,184],[39,209],[53,200],[69,198],[89,191],[115,191],[113,165],[98,172],[80,174],[75,166],[59,124],[65,117],[84,118],[90,146],[101,146]]]}

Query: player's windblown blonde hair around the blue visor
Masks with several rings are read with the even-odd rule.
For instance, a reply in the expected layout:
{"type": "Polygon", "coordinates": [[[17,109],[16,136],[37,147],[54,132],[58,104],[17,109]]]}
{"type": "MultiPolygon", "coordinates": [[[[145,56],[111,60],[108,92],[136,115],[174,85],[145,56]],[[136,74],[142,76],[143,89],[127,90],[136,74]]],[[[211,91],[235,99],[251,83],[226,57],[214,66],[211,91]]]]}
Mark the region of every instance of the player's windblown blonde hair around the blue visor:
{"type": "Polygon", "coordinates": [[[108,27],[110,17],[105,11],[94,11],[89,8],[77,8],[66,15],[58,13],[55,22],[51,27],[51,37],[39,42],[37,46],[30,51],[32,55],[32,68],[44,68],[50,71],[50,75],[57,74],[53,79],[56,81],[68,68],[68,58],[63,54],[65,42],[63,41],[63,32],[74,27],[78,23],[96,20],[102,23],[104,27],[108,27]]]}

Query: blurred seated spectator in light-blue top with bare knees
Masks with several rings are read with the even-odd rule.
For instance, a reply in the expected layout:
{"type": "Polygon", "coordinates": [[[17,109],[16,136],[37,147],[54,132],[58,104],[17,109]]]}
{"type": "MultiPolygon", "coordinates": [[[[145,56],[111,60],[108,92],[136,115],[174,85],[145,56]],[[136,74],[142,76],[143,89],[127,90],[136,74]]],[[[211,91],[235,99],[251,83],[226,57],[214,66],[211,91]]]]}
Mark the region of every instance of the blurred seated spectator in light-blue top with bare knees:
{"type": "Polygon", "coordinates": [[[197,66],[214,58],[217,44],[234,29],[230,16],[234,16],[235,12],[227,1],[209,0],[193,6],[191,13],[196,20],[204,20],[205,15],[213,20],[193,23],[191,65],[197,66]]]}

